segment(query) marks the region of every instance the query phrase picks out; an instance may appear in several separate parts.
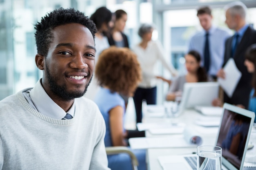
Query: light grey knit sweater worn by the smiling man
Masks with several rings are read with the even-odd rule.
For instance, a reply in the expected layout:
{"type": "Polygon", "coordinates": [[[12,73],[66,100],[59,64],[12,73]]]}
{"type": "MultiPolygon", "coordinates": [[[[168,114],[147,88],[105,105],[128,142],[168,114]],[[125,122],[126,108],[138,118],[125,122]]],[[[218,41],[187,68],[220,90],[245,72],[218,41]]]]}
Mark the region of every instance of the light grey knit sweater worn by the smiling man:
{"type": "Polygon", "coordinates": [[[53,119],[29,105],[27,90],[0,101],[0,170],[109,170],[94,102],[77,98],[73,119],[53,119]]]}

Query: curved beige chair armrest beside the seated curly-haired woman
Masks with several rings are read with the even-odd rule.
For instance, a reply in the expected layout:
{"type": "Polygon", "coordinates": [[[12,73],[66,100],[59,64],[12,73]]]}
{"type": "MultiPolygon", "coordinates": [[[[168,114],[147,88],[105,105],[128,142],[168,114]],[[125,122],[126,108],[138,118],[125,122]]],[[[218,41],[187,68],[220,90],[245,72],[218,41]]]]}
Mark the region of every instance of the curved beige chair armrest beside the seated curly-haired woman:
{"type": "Polygon", "coordinates": [[[138,170],[137,166],[139,165],[137,157],[125,146],[110,146],[106,147],[107,155],[115,155],[119,153],[127,153],[131,158],[132,169],[138,170]]]}

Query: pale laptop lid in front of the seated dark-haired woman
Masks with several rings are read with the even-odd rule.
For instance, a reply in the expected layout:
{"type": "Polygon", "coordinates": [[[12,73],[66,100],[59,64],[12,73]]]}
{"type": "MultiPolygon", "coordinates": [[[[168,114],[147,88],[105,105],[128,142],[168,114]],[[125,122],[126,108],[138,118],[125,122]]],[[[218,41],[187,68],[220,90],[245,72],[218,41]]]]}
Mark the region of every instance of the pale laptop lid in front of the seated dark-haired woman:
{"type": "Polygon", "coordinates": [[[211,106],[211,102],[218,98],[218,95],[218,82],[185,83],[179,112],[182,113],[185,109],[195,106],[211,106]]]}

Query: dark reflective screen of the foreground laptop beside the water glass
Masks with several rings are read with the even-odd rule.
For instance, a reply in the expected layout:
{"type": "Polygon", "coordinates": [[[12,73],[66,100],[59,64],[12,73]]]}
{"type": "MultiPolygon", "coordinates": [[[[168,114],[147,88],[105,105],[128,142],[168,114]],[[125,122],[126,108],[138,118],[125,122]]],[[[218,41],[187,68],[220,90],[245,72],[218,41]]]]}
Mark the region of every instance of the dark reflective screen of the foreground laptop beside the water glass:
{"type": "MultiPolygon", "coordinates": [[[[236,110],[236,106],[231,107],[236,110]]],[[[222,148],[222,158],[240,170],[241,166],[243,166],[242,161],[244,160],[245,150],[247,149],[247,138],[248,133],[251,131],[250,124],[252,117],[247,117],[240,113],[241,110],[243,111],[245,109],[237,109],[239,113],[224,107],[217,146],[222,148]]]]}

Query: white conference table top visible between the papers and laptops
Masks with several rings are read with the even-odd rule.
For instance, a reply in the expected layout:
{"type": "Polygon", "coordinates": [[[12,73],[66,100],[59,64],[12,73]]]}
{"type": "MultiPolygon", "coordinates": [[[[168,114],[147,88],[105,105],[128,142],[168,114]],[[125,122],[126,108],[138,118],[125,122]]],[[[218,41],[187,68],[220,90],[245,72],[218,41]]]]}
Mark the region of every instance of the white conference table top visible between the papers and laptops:
{"type": "MultiPolygon", "coordinates": [[[[184,123],[187,127],[193,128],[200,133],[200,137],[202,137],[202,145],[215,145],[216,144],[216,136],[218,134],[218,127],[203,127],[198,126],[195,124],[196,119],[204,119],[209,118],[209,116],[204,116],[201,113],[198,113],[197,111],[191,109],[191,110],[185,110],[184,113],[180,114],[179,117],[174,118],[166,118],[166,116],[163,115],[164,110],[163,106],[153,106],[150,105],[150,107],[154,108],[155,110],[158,110],[158,116],[157,113],[155,115],[150,115],[150,113],[144,113],[143,123],[159,123],[159,124],[166,124],[171,122],[175,123],[184,123]],[[161,108],[162,107],[162,108],[161,108]],[[162,115],[161,115],[162,114],[162,115]]],[[[218,116],[220,117],[220,116],[218,116]]],[[[214,118],[214,117],[213,117],[214,118]]],[[[255,134],[256,129],[254,128],[255,134]]],[[[176,134],[177,135],[177,134],[176,134]]],[[[183,135],[183,134],[180,134],[183,135]]],[[[171,134],[168,135],[152,135],[147,130],[146,131],[146,137],[163,137],[163,136],[174,136],[171,134]]],[[[256,144],[256,141],[255,141],[256,144]]],[[[249,153],[256,153],[255,152],[256,147],[253,148],[253,150],[250,150],[249,153]]],[[[164,155],[184,155],[184,154],[191,154],[196,152],[196,147],[186,147],[186,148],[148,148],[147,154],[146,154],[146,161],[148,170],[163,170],[161,165],[159,164],[157,158],[159,156],[164,155]]]]}

